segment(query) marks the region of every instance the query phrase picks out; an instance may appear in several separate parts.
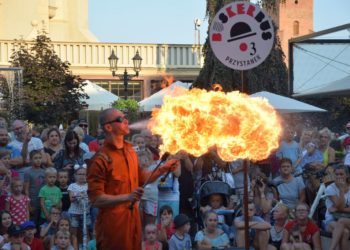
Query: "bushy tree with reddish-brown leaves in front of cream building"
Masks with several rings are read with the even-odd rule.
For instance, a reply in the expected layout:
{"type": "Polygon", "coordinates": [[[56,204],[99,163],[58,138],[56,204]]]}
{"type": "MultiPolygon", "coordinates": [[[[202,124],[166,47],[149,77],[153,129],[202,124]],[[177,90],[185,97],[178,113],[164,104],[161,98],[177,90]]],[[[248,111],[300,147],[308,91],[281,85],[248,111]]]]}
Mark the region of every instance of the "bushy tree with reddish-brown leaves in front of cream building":
{"type": "MultiPolygon", "coordinates": [[[[77,117],[80,98],[88,98],[82,89],[85,84],[71,73],[70,64],[57,56],[49,37],[42,34],[33,43],[19,41],[11,64],[23,68],[22,86],[15,90],[21,97],[14,110],[16,117],[44,125],[77,117]]],[[[3,92],[5,99],[7,92],[3,92]]]]}

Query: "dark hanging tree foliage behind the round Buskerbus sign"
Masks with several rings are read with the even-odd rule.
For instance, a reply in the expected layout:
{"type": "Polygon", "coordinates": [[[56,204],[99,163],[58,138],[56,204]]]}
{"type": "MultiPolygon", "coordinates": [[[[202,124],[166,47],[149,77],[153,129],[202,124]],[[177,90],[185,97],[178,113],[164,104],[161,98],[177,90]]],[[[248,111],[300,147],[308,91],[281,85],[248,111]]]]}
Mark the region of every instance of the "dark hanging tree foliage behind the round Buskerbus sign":
{"type": "MultiPolygon", "coordinates": [[[[207,0],[206,11],[209,24],[216,13],[229,2],[232,1],[207,0]]],[[[276,10],[277,2],[279,1],[265,0],[261,1],[261,5],[273,13],[276,10]]],[[[206,39],[204,44],[203,54],[205,57],[204,66],[194,83],[195,87],[210,89],[211,84],[219,83],[224,91],[242,90],[241,72],[226,67],[215,57],[210,47],[209,38],[206,39]]],[[[258,67],[244,72],[244,92],[254,93],[266,90],[286,95],[288,92],[288,74],[284,58],[277,32],[275,32],[275,43],[270,55],[258,67]]]]}

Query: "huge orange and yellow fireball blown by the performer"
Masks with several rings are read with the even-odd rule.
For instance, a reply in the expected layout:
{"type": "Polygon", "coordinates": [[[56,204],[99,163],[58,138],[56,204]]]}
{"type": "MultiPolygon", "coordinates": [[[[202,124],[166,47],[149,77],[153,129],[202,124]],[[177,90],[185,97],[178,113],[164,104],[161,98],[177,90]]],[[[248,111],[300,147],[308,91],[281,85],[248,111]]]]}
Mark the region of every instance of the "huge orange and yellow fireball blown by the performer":
{"type": "Polygon", "coordinates": [[[266,99],[238,91],[223,93],[192,89],[166,96],[149,124],[162,137],[162,152],[179,150],[198,157],[216,146],[221,159],[266,159],[278,147],[281,126],[266,99]]]}

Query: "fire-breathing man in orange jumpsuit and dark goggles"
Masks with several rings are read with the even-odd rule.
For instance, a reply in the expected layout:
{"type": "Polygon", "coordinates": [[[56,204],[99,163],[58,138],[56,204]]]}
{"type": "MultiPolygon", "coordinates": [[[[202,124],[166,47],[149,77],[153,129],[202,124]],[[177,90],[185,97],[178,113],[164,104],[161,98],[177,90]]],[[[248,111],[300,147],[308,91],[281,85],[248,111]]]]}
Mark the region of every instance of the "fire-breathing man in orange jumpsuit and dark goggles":
{"type": "Polygon", "coordinates": [[[141,249],[141,220],[138,201],[143,194],[140,187],[148,179],[174,171],[179,161],[172,159],[152,175],[138,167],[132,144],[124,140],[129,133],[128,120],[116,109],[100,114],[100,126],[106,139],[88,167],[88,195],[99,208],[96,221],[97,249],[141,249]],[[150,178],[149,178],[150,177],[150,178]]]}

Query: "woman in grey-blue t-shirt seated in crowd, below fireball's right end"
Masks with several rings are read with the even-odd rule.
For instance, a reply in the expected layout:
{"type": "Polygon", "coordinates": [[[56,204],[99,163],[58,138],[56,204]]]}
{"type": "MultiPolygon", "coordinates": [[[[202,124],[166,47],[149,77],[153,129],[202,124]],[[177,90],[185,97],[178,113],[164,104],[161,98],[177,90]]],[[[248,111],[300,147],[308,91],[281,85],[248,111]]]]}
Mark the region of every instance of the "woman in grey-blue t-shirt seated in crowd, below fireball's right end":
{"type": "Polygon", "coordinates": [[[280,176],[276,177],[273,182],[277,186],[279,197],[289,209],[294,209],[297,202],[305,201],[305,185],[301,177],[293,176],[292,161],[288,158],[281,159],[280,176]]]}

